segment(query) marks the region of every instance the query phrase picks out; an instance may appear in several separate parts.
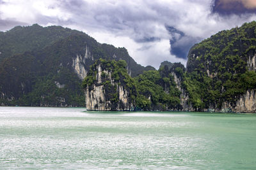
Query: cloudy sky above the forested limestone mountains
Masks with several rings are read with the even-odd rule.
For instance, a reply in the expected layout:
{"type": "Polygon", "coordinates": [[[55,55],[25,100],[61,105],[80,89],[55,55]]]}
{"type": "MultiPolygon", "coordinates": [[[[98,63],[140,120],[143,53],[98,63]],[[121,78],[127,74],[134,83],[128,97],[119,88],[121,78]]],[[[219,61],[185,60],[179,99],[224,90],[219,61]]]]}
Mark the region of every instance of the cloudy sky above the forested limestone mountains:
{"type": "Polygon", "coordinates": [[[0,0],[0,31],[61,25],[127,48],[143,66],[186,66],[191,46],[256,20],[256,0],[0,0]]]}

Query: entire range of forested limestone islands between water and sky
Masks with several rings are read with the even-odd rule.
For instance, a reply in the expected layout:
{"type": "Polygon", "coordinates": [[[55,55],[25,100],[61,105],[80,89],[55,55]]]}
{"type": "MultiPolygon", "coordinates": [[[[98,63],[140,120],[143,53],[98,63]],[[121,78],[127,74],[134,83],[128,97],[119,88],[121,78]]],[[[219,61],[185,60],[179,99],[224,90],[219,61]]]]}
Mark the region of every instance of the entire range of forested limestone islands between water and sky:
{"type": "Polygon", "coordinates": [[[186,67],[158,70],[60,26],[18,26],[0,40],[1,106],[256,113],[256,22],[192,46],[186,67]]]}

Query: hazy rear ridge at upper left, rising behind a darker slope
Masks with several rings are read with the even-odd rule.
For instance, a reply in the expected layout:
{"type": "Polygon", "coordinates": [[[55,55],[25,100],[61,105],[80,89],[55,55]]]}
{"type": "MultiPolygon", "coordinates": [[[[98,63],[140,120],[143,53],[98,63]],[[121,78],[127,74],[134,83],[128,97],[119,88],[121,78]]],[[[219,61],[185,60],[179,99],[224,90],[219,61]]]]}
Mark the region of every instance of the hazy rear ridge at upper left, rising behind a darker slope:
{"type": "Polygon", "coordinates": [[[0,32],[0,62],[15,54],[41,50],[72,34],[84,33],[60,26],[42,27],[38,24],[17,26],[10,31],[0,32]]]}

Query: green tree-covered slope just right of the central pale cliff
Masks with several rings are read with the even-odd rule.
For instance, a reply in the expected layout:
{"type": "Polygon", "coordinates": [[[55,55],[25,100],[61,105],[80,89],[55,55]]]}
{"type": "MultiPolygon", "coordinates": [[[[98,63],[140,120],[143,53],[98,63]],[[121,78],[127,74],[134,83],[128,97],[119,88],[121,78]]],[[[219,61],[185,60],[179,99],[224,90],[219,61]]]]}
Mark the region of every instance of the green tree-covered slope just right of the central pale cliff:
{"type": "Polygon", "coordinates": [[[180,91],[168,66],[147,71],[135,78],[137,106],[143,110],[181,110],[180,91]]]}

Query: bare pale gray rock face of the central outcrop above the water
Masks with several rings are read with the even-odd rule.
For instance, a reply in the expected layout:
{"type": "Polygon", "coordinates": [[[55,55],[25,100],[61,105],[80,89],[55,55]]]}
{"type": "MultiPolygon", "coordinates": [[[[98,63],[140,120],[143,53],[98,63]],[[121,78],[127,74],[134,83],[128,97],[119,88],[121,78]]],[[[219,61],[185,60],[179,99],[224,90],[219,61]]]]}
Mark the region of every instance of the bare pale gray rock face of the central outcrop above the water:
{"type": "Polygon", "coordinates": [[[120,81],[116,81],[111,76],[111,72],[99,65],[95,83],[85,88],[85,103],[87,110],[93,111],[132,111],[134,105],[131,101],[131,94],[125,89],[120,81]],[[102,73],[106,75],[104,80],[102,73]],[[108,81],[109,83],[106,83],[108,81]],[[114,94],[116,100],[113,100],[114,94]],[[111,96],[111,97],[109,97],[111,96]]]}

